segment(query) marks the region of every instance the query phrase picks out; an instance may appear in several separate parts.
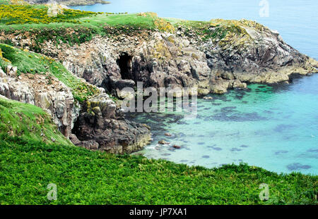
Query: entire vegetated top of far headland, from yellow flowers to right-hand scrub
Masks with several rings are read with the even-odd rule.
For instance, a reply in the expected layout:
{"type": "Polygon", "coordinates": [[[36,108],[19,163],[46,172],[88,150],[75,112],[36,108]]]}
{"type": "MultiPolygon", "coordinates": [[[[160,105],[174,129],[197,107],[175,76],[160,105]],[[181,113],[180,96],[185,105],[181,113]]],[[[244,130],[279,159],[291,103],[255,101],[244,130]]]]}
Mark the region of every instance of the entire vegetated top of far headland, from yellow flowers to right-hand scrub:
{"type": "Polygon", "coordinates": [[[159,18],[156,13],[94,13],[63,8],[57,17],[49,17],[48,10],[47,6],[0,5],[0,30],[4,35],[25,33],[37,44],[32,50],[40,52],[40,44],[48,40],[72,45],[89,41],[95,35],[134,35],[143,30],[176,32],[179,28],[200,40],[222,40],[227,35],[246,35],[240,25],[257,25],[247,20],[188,21],[159,18]]]}

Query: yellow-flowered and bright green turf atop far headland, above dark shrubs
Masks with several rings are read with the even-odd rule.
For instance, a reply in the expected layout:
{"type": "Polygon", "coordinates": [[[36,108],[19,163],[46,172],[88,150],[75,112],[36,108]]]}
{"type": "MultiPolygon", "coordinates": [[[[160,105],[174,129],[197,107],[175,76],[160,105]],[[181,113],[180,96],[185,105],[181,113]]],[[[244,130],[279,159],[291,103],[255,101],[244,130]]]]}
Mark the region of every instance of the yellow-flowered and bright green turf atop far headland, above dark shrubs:
{"type": "MultiPolygon", "coordinates": [[[[0,5],[1,6],[1,5],[0,5]]],[[[71,17],[66,17],[65,14],[59,14],[57,18],[59,18],[58,22],[47,22],[45,19],[54,19],[52,18],[37,18],[37,22],[30,20],[30,22],[15,25],[6,25],[8,18],[14,17],[16,20],[25,19],[23,16],[24,11],[20,7],[28,7],[30,11],[33,11],[34,17],[37,16],[37,13],[34,12],[35,7],[41,8],[37,10],[47,10],[47,6],[13,6],[13,5],[3,5],[2,8],[12,8],[17,7],[11,10],[3,10],[0,11],[0,27],[3,30],[31,30],[31,29],[41,29],[43,27],[47,27],[49,29],[57,29],[59,27],[91,27],[93,29],[98,28],[102,30],[105,25],[114,26],[114,27],[140,27],[145,29],[153,29],[155,28],[155,20],[158,19],[155,13],[135,13],[135,14],[127,14],[127,13],[93,13],[89,11],[78,11],[78,10],[68,10],[64,13],[68,12],[71,17]],[[6,11],[6,13],[5,13],[6,11]]],[[[42,16],[45,16],[45,11],[41,12],[42,16]]],[[[38,16],[41,16],[38,15],[38,16]]],[[[57,19],[56,18],[56,19],[57,19]]]]}

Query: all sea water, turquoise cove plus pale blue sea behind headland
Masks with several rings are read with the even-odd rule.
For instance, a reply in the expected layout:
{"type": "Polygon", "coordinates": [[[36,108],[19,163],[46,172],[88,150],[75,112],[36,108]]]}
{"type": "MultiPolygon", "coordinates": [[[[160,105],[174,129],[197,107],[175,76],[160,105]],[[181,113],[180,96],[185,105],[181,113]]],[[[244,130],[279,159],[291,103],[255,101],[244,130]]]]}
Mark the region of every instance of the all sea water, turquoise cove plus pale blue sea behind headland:
{"type": "MultiPolygon", "coordinates": [[[[260,1],[114,0],[112,4],[76,6],[87,11],[155,11],[161,17],[257,20],[281,33],[285,42],[318,58],[318,1],[269,1],[269,17],[259,17],[260,1]]],[[[129,115],[151,125],[153,142],[139,152],[148,158],[217,167],[245,162],[278,173],[318,174],[318,75],[290,85],[249,85],[247,91],[198,100],[196,120],[175,113],[129,115]],[[172,137],[165,137],[169,132],[172,137]],[[158,141],[181,146],[173,149],[158,141]]]]}

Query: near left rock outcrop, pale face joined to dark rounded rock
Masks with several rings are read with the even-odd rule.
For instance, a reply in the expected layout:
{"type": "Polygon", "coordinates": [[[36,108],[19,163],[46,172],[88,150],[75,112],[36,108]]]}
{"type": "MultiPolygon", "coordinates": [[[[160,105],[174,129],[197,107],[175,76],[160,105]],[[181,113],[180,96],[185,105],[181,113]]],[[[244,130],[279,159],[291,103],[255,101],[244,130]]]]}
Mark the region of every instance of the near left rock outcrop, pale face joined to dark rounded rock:
{"type": "Polygon", "coordinates": [[[147,125],[125,120],[105,89],[81,105],[71,89],[49,73],[17,75],[17,68],[0,68],[0,96],[43,108],[64,136],[86,149],[125,154],[148,144],[147,125]],[[73,129],[73,134],[72,134],[73,129]]]}

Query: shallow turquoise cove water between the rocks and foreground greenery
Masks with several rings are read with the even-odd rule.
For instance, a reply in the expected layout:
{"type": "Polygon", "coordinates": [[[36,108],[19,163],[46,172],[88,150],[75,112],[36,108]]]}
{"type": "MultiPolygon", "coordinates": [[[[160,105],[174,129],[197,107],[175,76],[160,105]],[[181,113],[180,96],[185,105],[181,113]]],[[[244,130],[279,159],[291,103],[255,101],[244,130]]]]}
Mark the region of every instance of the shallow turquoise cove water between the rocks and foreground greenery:
{"type": "Polygon", "coordinates": [[[316,74],[292,85],[249,85],[198,99],[195,120],[177,113],[129,115],[152,128],[152,144],[139,153],[209,168],[244,162],[278,173],[317,174],[317,80],[316,74]],[[158,144],[162,139],[182,148],[158,144]]]}

